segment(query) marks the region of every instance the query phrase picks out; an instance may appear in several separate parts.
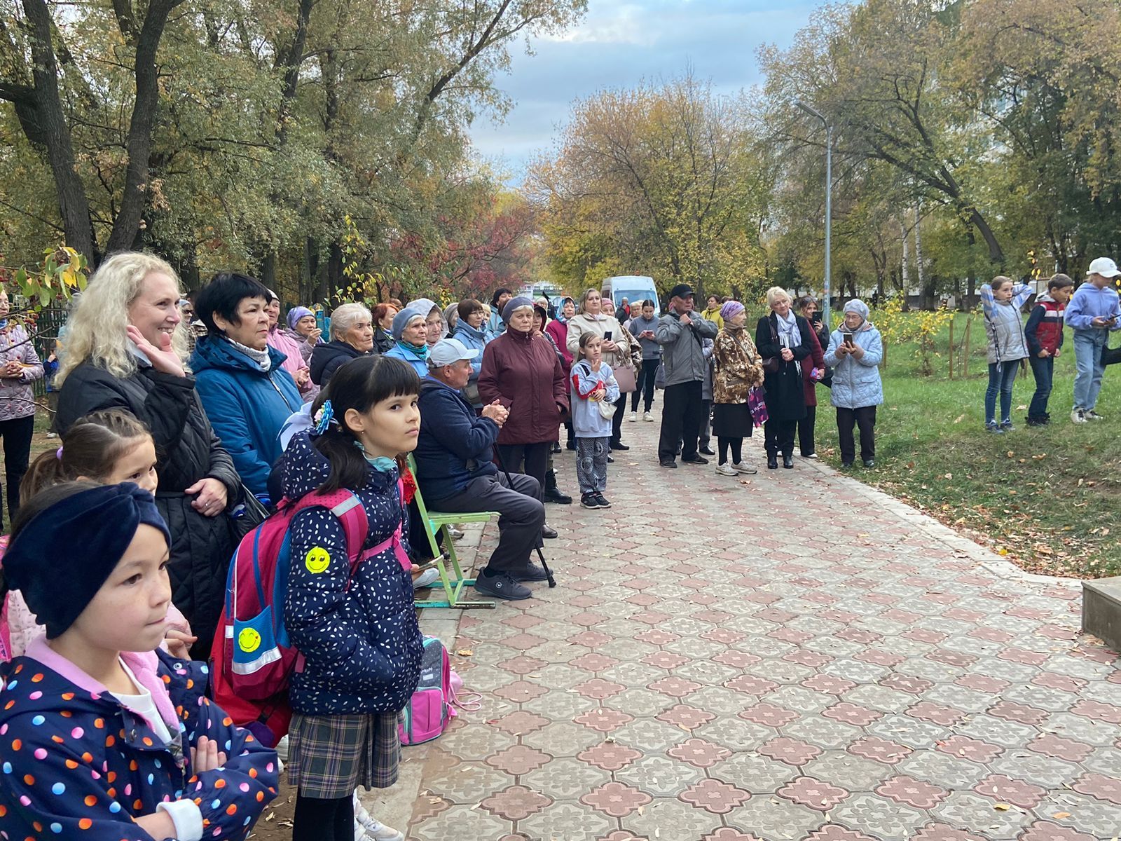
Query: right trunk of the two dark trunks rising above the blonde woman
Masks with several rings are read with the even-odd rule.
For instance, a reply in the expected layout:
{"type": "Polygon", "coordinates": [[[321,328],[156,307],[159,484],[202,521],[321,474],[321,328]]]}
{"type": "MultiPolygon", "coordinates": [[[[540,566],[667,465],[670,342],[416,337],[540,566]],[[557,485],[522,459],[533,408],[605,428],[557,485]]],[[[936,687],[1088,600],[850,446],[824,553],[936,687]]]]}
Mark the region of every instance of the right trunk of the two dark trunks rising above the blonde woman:
{"type": "Polygon", "coordinates": [[[148,196],[148,158],[151,154],[151,130],[156,122],[156,109],[159,105],[159,80],[156,72],[156,52],[167,16],[183,0],[151,0],[145,15],[143,27],[137,37],[136,52],[136,101],[132,104],[132,119],[129,122],[127,149],[128,167],[124,172],[124,192],[121,205],[113,220],[113,230],[109,234],[105,250],[127,251],[135,247],[140,232],[140,220],[148,196]]]}

